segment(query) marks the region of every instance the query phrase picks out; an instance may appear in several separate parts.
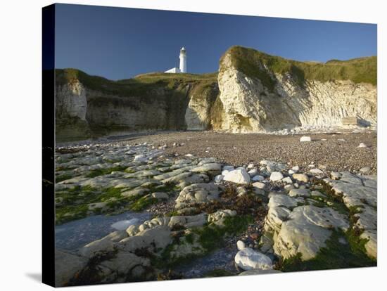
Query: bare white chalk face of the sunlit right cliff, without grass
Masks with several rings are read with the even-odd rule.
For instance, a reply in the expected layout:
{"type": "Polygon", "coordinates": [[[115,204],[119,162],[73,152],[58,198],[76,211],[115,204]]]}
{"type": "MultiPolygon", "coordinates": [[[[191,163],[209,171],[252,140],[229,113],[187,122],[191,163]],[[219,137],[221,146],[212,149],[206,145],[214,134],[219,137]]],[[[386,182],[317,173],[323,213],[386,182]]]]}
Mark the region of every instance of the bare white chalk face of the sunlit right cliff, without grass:
{"type": "Polygon", "coordinates": [[[350,79],[305,79],[300,85],[291,73],[273,72],[265,64],[257,63],[256,70],[266,71],[265,77],[273,81],[269,83],[274,84],[270,90],[258,77],[238,70],[233,58],[232,51],[225,53],[218,75],[224,130],[267,132],[294,127],[339,127],[343,117],[376,124],[376,86],[372,84],[350,79]]]}

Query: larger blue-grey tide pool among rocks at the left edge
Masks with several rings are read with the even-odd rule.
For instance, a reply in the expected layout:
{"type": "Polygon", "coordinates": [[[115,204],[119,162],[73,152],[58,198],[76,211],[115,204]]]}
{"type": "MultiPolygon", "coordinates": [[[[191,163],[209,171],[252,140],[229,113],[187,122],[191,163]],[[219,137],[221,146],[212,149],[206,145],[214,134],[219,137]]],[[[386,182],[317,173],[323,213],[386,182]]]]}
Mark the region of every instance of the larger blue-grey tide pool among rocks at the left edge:
{"type": "Polygon", "coordinates": [[[94,215],[70,221],[56,226],[56,247],[63,250],[76,250],[115,231],[112,224],[118,221],[138,219],[141,224],[150,218],[149,213],[124,212],[118,215],[94,215]]]}

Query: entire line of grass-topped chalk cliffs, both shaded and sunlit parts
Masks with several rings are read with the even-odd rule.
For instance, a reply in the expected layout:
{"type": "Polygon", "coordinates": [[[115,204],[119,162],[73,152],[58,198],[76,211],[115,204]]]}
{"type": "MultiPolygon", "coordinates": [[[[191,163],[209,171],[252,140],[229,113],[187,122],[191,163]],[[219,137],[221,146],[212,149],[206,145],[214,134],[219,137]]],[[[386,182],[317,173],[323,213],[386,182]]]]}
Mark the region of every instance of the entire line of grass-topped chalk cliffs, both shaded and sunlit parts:
{"type": "Polygon", "coordinates": [[[234,46],[218,74],[110,81],[56,70],[59,141],[146,130],[324,129],[341,127],[343,117],[376,125],[376,57],[305,63],[234,46]]]}

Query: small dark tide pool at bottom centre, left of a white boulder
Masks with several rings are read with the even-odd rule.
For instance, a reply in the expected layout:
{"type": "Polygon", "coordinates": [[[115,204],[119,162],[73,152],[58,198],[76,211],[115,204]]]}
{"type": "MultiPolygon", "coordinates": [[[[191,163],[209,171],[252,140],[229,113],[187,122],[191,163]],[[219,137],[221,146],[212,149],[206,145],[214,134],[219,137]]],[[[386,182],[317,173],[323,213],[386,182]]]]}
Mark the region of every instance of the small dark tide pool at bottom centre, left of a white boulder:
{"type": "Polygon", "coordinates": [[[193,259],[188,264],[182,264],[174,269],[177,273],[182,273],[185,278],[201,278],[208,275],[212,270],[225,270],[237,273],[234,266],[234,257],[238,250],[222,248],[215,250],[205,257],[193,259]]]}

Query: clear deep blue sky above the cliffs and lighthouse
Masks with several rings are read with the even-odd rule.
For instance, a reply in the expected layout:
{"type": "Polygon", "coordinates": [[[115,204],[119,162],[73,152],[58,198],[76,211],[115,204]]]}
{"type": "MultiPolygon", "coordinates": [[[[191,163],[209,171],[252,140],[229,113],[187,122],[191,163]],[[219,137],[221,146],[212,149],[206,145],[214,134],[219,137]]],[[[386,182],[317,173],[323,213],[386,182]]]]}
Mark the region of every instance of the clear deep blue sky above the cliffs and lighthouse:
{"type": "Polygon", "coordinates": [[[56,68],[127,79],[179,66],[215,72],[234,45],[293,60],[376,56],[376,25],[56,4],[56,68]]]}

